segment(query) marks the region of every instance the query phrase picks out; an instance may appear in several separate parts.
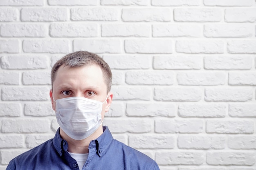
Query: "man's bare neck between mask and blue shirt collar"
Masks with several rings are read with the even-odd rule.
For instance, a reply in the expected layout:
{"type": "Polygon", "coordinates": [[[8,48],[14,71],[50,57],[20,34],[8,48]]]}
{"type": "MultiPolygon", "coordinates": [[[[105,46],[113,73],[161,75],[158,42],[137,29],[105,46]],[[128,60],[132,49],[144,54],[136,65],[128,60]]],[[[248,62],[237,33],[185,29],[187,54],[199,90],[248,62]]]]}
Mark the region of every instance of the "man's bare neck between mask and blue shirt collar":
{"type": "Polygon", "coordinates": [[[61,128],[60,135],[61,137],[67,141],[68,148],[67,151],[71,153],[89,153],[89,144],[92,140],[97,139],[103,133],[102,125],[89,137],[83,140],[74,140],[69,137],[61,128]]]}

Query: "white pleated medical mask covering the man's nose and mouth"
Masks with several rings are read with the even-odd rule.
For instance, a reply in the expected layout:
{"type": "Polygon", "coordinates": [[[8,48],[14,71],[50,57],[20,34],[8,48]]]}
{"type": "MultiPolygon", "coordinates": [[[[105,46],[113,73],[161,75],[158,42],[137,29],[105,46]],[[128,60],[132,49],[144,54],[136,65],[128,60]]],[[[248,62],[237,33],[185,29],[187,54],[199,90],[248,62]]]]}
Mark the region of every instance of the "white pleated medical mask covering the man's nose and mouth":
{"type": "Polygon", "coordinates": [[[67,97],[54,100],[56,102],[57,122],[72,139],[85,139],[101,125],[102,104],[106,100],[99,102],[85,97],[67,97]]]}

